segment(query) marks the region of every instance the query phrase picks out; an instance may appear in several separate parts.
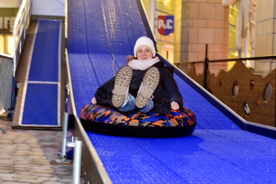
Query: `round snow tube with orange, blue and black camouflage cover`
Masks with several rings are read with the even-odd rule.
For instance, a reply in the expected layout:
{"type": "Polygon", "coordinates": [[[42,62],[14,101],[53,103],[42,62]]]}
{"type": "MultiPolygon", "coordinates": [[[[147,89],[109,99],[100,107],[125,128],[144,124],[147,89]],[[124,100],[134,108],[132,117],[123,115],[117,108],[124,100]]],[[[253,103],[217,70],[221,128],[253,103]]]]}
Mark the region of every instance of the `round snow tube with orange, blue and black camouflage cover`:
{"type": "Polygon", "coordinates": [[[124,116],[100,105],[87,104],[81,111],[80,120],[86,131],[130,137],[182,137],[193,133],[196,116],[183,107],[170,114],[137,112],[124,116]]]}

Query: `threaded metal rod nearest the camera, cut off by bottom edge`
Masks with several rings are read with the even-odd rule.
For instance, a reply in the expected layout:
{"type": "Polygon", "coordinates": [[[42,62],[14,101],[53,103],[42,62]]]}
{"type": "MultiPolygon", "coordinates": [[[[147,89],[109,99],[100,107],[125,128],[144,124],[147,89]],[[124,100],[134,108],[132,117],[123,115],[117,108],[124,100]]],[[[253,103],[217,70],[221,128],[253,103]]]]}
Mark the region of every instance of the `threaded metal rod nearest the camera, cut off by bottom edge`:
{"type": "Polygon", "coordinates": [[[75,142],[73,184],[80,184],[80,171],[82,161],[82,141],[75,142]]]}

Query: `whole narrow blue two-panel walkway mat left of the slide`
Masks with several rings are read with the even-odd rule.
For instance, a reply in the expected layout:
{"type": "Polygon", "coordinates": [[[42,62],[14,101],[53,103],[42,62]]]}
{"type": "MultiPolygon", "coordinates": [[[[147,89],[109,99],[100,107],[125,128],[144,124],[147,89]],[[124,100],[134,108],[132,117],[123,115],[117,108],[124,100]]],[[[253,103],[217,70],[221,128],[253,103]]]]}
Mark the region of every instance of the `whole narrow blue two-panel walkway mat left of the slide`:
{"type": "Polygon", "coordinates": [[[20,126],[60,126],[60,31],[61,21],[39,20],[20,126]]]}

